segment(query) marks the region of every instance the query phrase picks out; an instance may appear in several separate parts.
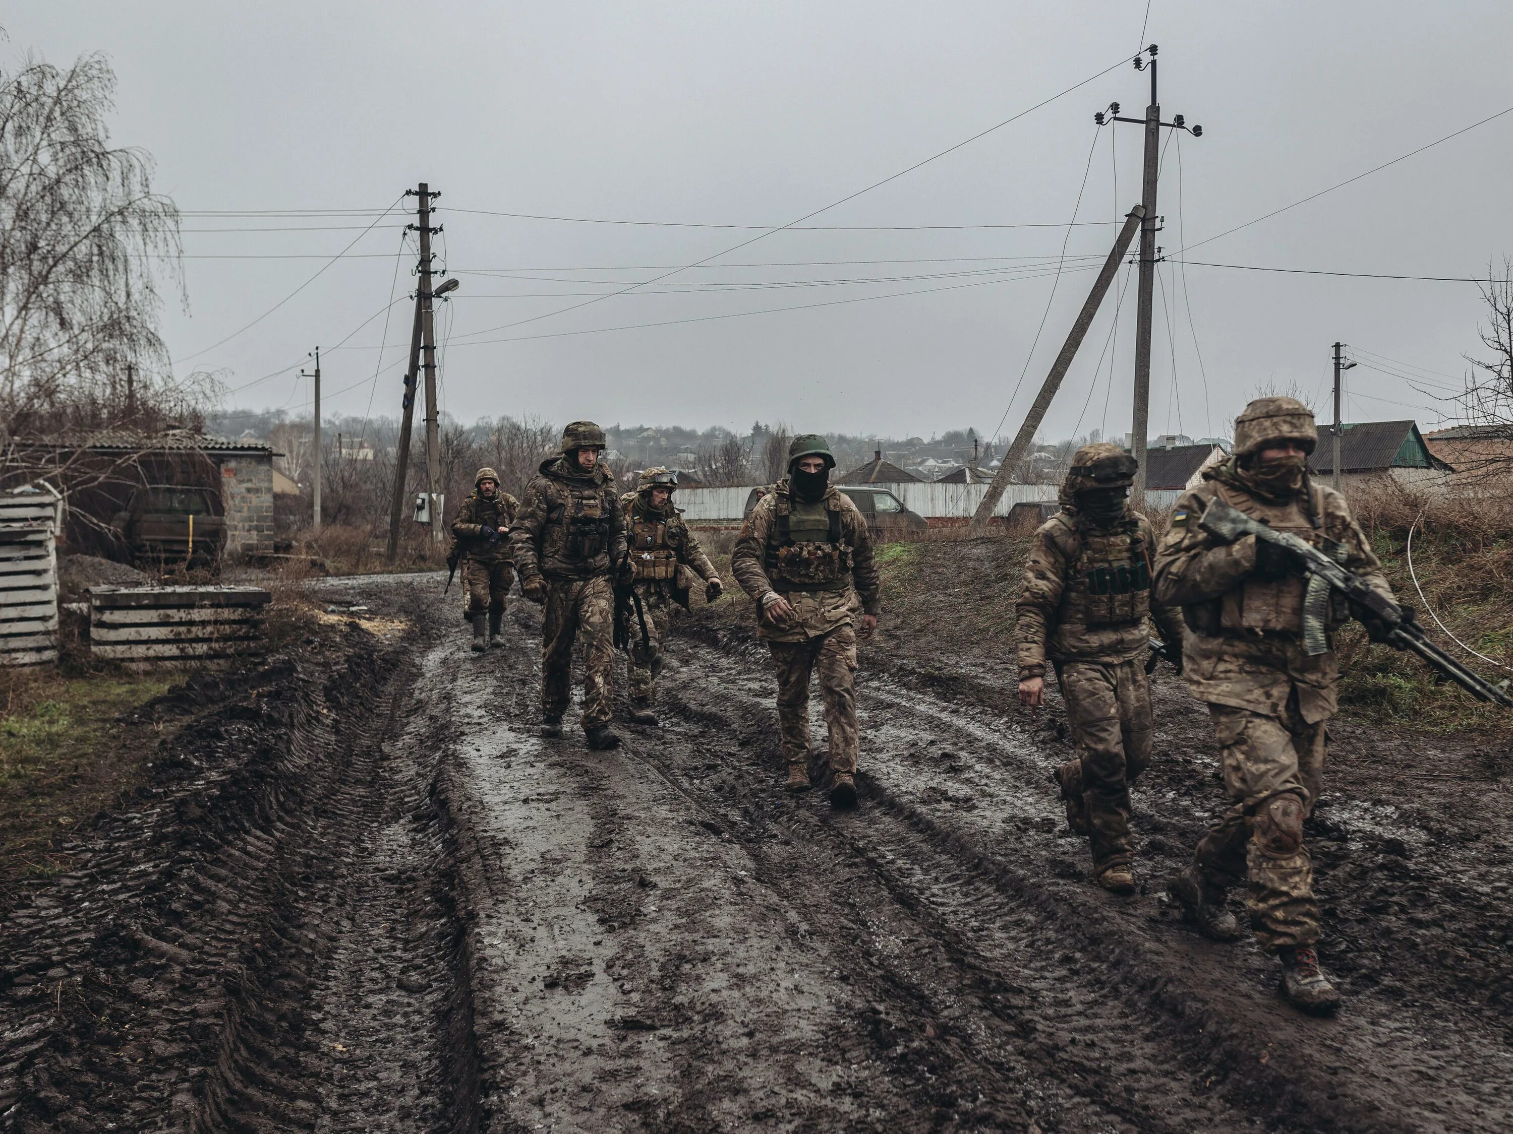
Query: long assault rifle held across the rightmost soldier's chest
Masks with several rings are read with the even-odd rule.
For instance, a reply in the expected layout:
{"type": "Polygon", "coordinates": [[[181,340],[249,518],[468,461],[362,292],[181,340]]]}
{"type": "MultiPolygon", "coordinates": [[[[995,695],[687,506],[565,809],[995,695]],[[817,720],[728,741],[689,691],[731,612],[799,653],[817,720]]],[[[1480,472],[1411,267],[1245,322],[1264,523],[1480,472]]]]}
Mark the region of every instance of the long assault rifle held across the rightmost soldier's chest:
{"type": "Polygon", "coordinates": [[[1398,606],[1307,540],[1292,532],[1272,531],[1265,523],[1219,499],[1210,500],[1203,510],[1198,526],[1219,543],[1236,543],[1247,535],[1254,535],[1257,540],[1283,547],[1292,555],[1298,567],[1309,576],[1309,588],[1303,599],[1303,649],[1306,653],[1316,656],[1328,652],[1324,615],[1328,611],[1328,593],[1336,591],[1350,599],[1353,611],[1363,611],[1368,618],[1378,623],[1372,638],[1398,650],[1413,650],[1478,702],[1495,702],[1513,709],[1513,697],[1508,696],[1507,682],[1501,685],[1484,682],[1428,640],[1424,627],[1413,620],[1412,608],[1398,606]]]}

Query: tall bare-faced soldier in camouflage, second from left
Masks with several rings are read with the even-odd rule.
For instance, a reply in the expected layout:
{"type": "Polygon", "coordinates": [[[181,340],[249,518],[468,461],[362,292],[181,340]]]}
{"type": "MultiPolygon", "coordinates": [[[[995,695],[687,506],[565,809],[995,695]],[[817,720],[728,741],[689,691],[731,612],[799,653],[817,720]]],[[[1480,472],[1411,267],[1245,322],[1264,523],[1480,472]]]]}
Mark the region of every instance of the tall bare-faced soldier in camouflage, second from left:
{"type": "Polygon", "coordinates": [[[520,593],[542,615],[542,735],[561,736],[572,686],[573,640],[583,640],[583,727],[590,748],[613,748],[610,674],[614,668],[616,573],[629,573],[625,516],[614,476],[599,461],[604,431],[572,422],[561,455],[540,464],[514,525],[520,593]]]}

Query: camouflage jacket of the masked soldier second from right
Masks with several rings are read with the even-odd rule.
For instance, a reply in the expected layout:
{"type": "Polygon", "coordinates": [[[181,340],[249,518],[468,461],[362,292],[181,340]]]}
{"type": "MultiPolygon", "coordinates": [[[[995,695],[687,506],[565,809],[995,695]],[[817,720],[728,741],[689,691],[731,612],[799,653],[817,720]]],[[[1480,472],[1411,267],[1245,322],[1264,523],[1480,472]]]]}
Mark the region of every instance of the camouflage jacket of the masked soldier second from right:
{"type": "Polygon", "coordinates": [[[1047,658],[1109,664],[1138,658],[1151,620],[1163,641],[1182,646],[1182,614],[1150,600],[1156,550],[1150,520],[1130,513],[1109,534],[1085,532],[1085,523],[1076,505],[1064,502],[1030,543],[1017,603],[1020,680],[1044,676],[1047,658]]]}

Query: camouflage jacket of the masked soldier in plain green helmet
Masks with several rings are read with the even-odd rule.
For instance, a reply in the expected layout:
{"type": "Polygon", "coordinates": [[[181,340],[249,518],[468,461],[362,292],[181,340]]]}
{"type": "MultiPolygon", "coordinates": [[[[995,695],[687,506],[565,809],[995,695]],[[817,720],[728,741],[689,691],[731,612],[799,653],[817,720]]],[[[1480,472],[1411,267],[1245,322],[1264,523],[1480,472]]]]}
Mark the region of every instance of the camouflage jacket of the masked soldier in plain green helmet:
{"type": "MultiPolygon", "coordinates": [[[[806,588],[782,578],[773,579],[773,561],[782,547],[781,517],[790,511],[788,479],[784,478],[763,496],[741,525],[731,553],[731,573],[756,602],[756,634],[767,641],[806,641],[855,621],[859,612],[878,614],[881,581],[873,559],[867,519],[850,497],[835,485],[825,491],[825,516],[834,516],[838,541],[834,544],[844,569],[834,584],[806,588]],[[763,596],[778,591],[793,605],[793,623],[776,624],[764,614],[763,596]]],[[[811,544],[823,549],[823,543],[811,544]]]]}

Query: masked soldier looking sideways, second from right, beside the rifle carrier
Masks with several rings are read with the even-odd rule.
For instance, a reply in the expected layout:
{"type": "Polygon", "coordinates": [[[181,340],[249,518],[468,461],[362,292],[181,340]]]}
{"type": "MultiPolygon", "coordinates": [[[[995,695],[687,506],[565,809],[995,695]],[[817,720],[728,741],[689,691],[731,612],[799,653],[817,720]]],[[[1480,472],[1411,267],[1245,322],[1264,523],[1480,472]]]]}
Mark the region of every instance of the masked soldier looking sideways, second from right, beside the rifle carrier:
{"type": "Polygon", "coordinates": [[[1115,894],[1135,892],[1129,785],[1150,765],[1151,617],[1171,656],[1182,653],[1180,612],[1150,602],[1156,538],[1129,510],[1135,470],[1117,445],[1077,449],[1018,600],[1020,700],[1041,703],[1050,659],[1080,750],[1055,779],[1071,829],[1091,839],[1094,878],[1115,894]]]}

